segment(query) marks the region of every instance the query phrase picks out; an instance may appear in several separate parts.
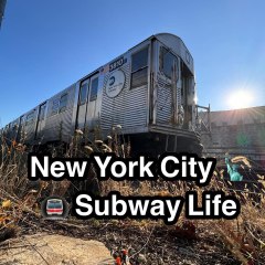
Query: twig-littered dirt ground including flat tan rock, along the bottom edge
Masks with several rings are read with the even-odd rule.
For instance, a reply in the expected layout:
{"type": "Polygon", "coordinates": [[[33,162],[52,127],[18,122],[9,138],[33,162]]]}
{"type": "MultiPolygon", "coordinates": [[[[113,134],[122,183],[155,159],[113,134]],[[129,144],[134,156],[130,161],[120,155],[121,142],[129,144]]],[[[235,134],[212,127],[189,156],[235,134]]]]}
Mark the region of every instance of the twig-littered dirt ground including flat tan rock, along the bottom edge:
{"type": "Polygon", "coordinates": [[[117,248],[130,250],[134,265],[240,265],[206,229],[190,237],[158,223],[28,218],[14,237],[0,242],[0,265],[113,265],[117,248]]]}

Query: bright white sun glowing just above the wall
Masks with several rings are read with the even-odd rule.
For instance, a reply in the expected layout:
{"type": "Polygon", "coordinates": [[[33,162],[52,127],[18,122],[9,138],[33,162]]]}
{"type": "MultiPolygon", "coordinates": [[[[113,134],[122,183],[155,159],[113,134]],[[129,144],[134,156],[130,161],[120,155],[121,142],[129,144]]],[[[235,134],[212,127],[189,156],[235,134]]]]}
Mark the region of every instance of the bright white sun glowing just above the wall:
{"type": "Polygon", "coordinates": [[[229,95],[227,104],[230,108],[246,108],[251,107],[253,95],[250,91],[234,91],[229,95]]]}

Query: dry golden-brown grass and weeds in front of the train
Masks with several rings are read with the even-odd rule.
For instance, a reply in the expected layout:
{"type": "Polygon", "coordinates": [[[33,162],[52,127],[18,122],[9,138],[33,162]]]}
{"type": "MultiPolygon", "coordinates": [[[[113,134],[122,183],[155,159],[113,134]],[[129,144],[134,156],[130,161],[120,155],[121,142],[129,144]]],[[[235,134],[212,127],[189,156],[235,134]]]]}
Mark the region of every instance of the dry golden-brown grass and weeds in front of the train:
{"type": "MultiPolygon", "coordinates": [[[[59,147],[50,147],[50,150],[54,157],[89,157],[94,151],[113,151],[117,156],[127,157],[130,152],[130,145],[120,144],[117,134],[118,129],[113,129],[113,134],[108,137],[108,142],[103,142],[98,136],[91,142],[86,139],[85,146],[82,142],[86,136],[83,131],[77,130],[67,150],[59,147]]],[[[24,213],[39,215],[36,201],[41,195],[65,195],[70,190],[84,188],[80,187],[83,183],[76,184],[68,181],[56,183],[29,181],[26,178],[26,157],[29,151],[23,142],[17,144],[12,141],[10,145],[7,139],[1,139],[0,201],[2,206],[0,206],[0,240],[1,233],[7,231],[7,229],[9,229],[9,232],[10,229],[12,231],[19,220],[23,219],[24,213]]],[[[245,167],[252,167],[251,162],[250,165],[246,163],[245,167]]],[[[110,190],[117,190],[124,195],[184,195],[186,191],[191,189],[197,190],[199,195],[205,189],[223,190],[226,194],[234,193],[230,182],[224,180],[224,172],[223,169],[218,167],[210,186],[202,189],[181,181],[167,182],[162,180],[156,182],[142,181],[132,184],[128,181],[116,182],[113,180],[98,183],[95,171],[92,169],[88,184],[93,183],[102,194],[107,194],[110,190]]],[[[248,192],[250,187],[245,187],[244,192],[234,193],[242,205],[242,212],[237,219],[231,221],[192,221],[199,237],[203,236],[203,234],[216,236],[223,243],[223,247],[227,248],[239,262],[248,265],[265,264],[265,179],[261,174],[257,178],[259,188],[255,189],[256,197],[253,198],[253,194],[248,192]]],[[[248,183],[248,186],[256,186],[256,183],[248,183]]],[[[135,223],[136,221],[131,222],[135,223]]],[[[146,225],[147,222],[142,223],[146,225]]],[[[178,227],[186,223],[187,220],[182,215],[178,227]]]]}

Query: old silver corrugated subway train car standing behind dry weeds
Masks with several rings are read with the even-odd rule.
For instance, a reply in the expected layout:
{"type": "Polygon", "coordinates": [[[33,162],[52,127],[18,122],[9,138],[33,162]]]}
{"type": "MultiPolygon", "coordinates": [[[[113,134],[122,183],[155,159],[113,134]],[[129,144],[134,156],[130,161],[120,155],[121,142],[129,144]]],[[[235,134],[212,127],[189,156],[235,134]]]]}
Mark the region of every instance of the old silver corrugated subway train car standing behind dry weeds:
{"type": "MultiPolygon", "coordinates": [[[[2,129],[30,146],[63,141],[76,129],[114,126],[135,152],[200,153],[193,59],[183,41],[155,34],[23,114],[2,129]]],[[[93,138],[93,137],[92,137],[93,138]]]]}

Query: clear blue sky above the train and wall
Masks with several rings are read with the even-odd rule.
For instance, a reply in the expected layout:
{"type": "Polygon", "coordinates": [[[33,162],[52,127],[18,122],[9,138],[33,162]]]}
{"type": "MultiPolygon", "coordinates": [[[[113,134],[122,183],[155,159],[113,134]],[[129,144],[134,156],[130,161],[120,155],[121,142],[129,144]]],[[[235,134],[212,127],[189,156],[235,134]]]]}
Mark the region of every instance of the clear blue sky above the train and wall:
{"type": "Polygon", "coordinates": [[[0,126],[159,32],[193,55],[200,105],[233,108],[237,91],[265,105],[264,10],[263,0],[8,0],[0,126]]]}

